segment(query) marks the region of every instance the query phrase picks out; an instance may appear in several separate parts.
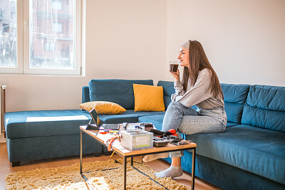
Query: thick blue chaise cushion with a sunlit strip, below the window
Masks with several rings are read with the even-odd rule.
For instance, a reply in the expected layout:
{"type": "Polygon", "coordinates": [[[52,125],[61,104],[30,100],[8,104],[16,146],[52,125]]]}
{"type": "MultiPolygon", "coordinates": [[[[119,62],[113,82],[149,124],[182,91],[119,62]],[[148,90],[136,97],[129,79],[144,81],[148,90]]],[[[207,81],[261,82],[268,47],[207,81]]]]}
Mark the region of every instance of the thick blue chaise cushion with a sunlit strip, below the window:
{"type": "Polygon", "coordinates": [[[87,125],[91,117],[82,110],[41,110],[6,112],[7,138],[46,137],[79,134],[79,126],[87,125]]]}

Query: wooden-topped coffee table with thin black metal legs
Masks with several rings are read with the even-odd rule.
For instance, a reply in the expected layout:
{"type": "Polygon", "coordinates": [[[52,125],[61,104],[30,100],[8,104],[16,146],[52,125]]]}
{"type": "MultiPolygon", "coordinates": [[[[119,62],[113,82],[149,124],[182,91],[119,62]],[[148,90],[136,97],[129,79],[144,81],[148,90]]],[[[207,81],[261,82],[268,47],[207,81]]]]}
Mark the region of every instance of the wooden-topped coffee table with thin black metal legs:
{"type": "MultiPolygon", "coordinates": [[[[90,137],[93,137],[93,139],[100,142],[100,144],[103,144],[105,147],[106,147],[106,144],[104,143],[104,138],[106,136],[104,136],[104,135],[106,135],[106,134],[98,134],[99,133],[98,130],[86,130],[86,126],[81,126],[80,131],[81,131],[80,173],[81,173],[81,176],[83,176],[83,178],[86,179],[86,177],[83,175],[83,172],[82,172],[82,147],[83,147],[82,134],[83,134],[83,132],[85,132],[90,137]]],[[[115,153],[120,155],[120,157],[123,157],[123,170],[124,170],[123,171],[124,172],[123,189],[125,189],[125,187],[126,187],[126,167],[127,167],[127,159],[129,157],[131,158],[130,164],[133,167],[133,157],[138,157],[138,156],[142,156],[145,154],[174,152],[174,151],[178,151],[178,150],[187,150],[187,149],[192,149],[192,183],[191,183],[191,189],[194,189],[194,186],[195,186],[196,147],[197,147],[197,144],[195,144],[193,142],[191,144],[185,144],[185,145],[180,145],[180,146],[168,143],[167,146],[165,146],[165,147],[153,147],[150,149],[140,149],[140,150],[130,151],[129,149],[123,148],[121,145],[115,146],[115,144],[114,144],[112,148],[115,151],[115,153]]]]}

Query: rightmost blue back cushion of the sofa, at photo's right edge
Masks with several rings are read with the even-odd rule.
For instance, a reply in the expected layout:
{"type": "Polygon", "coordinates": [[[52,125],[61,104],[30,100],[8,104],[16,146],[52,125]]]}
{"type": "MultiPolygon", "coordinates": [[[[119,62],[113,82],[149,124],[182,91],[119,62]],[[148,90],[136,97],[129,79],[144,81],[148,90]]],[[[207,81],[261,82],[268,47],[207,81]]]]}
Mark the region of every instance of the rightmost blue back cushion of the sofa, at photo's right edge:
{"type": "Polygon", "coordinates": [[[285,87],[252,85],[242,124],[285,132],[285,87]]]}

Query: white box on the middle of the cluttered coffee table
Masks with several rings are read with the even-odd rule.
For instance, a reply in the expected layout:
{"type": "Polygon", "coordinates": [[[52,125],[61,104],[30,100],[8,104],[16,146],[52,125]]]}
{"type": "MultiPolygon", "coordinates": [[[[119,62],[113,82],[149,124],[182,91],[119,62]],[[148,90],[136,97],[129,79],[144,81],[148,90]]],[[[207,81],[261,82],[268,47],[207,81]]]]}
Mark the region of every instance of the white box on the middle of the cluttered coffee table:
{"type": "Polygon", "coordinates": [[[121,144],[126,149],[149,149],[153,147],[153,134],[145,130],[125,130],[122,134],[121,144]]]}

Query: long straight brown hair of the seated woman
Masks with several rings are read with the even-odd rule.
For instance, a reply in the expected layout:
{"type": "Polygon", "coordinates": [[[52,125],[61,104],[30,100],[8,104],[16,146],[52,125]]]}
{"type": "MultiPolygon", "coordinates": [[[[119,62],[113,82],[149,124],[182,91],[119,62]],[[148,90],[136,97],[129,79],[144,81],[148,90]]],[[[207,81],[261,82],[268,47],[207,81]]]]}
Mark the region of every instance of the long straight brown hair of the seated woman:
{"type": "Polygon", "coordinates": [[[214,72],[212,65],[209,63],[206,53],[204,53],[204,49],[199,41],[190,41],[189,61],[190,69],[188,67],[184,67],[182,76],[182,85],[185,92],[187,89],[188,80],[190,80],[190,85],[194,86],[197,81],[199,71],[207,68],[212,75],[210,83],[211,93],[213,93],[214,97],[222,96],[224,99],[217,74],[214,72]]]}

